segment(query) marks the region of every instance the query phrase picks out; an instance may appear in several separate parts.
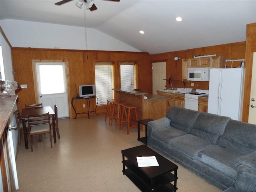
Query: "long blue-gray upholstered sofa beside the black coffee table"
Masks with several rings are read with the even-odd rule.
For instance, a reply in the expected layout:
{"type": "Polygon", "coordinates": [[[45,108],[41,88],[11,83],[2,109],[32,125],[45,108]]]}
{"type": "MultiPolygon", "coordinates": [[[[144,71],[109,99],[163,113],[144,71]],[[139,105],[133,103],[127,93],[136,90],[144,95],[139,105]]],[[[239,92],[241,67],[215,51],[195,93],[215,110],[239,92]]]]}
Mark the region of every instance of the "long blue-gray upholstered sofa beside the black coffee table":
{"type": "Polygon", "coordinates": [[[221,190],[256,190],[256,125],[172,107],[148,123],[148,146],[221,190]]]}

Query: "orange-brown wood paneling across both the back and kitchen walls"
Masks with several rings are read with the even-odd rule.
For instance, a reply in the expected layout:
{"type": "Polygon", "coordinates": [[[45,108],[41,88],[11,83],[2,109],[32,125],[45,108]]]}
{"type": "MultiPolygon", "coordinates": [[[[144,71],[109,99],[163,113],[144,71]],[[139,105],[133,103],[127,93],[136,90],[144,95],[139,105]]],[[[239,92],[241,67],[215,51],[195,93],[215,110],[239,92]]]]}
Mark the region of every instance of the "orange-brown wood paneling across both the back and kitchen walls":
{"type": "MultiPolygon", "coordinates": [[[[118,51],[92,51],[92,50],[60,50],[60,49],[39,49],[39,48],[12,48],[13,70],[17,71],[14,79],[20,84],[27,84],[27,89],[22,89],[18,94],[18,107],[24,108],[25,104],[36,102],[34,80],[32,74],[32,60],[62,60],[68,62],[68,100],[70,117],[74,117],[74,110],[71,107],[71,99],[76,96],[75,84],[94,84],[94,62],[112,62],[115,65],[116,79],[119,62],[136,62],[138,64],[138,88],[143,92],[152,93],[152,62],[166,61],[166,76],[171,74],[174,87],[186,87],[194,89],[208,89],[208,82],[190,82],[183,84],[182,59],[192,58],[196,55],[216,54],[227,56],[228,59],[244,59],[246,42],[223,44],[203,48],[194,48],[175,52],[150,55],[141,52],[118,52],[118,51]],[[180,60],[174,60],[174,57],[180,60]]],[[[239,66],[240,62],[233,63],[233,67],[239,66]]],[[[52,85],[54,86],[54,84],[52,85]]],[[[115,88],[120,88],[120,82],[116,81],[115,88]]],[[[166,86],[169,84],[166,82],[166,86]]],[[[118,97],[117,97],[118,98],[118,97]]],[[[82,102],[82,101],[81,101],[82,102]]],[[[92,108],[95,106],[92,105],[92,108]]],[[[82,104],[78,103],[78,111],[83,110],[82,104]]],[[[97,113],[104,113],[105,107],[98,107],[97,113]]],[[[84,116],[84,115],[80,115],[84,116]]],[[[247,114],[248,116],[248,114],[247,114]]]]}

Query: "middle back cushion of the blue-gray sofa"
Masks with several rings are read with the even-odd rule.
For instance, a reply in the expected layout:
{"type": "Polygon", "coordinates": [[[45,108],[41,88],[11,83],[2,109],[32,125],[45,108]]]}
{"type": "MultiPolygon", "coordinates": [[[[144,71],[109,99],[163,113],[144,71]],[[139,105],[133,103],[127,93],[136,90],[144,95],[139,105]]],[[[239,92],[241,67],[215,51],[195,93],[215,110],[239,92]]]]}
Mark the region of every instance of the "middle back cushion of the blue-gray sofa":
{"type": "Polygon", "coordinates": [[[229,120],[229,117],[201,112],[190,130],[190,134],[215,144],[218,138],[222,136],[229,120]]]}

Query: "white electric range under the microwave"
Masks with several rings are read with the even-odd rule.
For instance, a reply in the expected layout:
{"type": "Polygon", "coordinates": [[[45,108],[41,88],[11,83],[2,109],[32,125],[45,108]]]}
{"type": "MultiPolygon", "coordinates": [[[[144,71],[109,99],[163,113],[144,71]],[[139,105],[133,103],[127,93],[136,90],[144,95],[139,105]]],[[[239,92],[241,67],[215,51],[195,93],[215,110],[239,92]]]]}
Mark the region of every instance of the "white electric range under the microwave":
{"type": "Polygon", "coordinates": [[[198,111],[198,97],[209,94],[209,90],[197,89],[195,92],[185,93],[185,108],[198,111]]]}

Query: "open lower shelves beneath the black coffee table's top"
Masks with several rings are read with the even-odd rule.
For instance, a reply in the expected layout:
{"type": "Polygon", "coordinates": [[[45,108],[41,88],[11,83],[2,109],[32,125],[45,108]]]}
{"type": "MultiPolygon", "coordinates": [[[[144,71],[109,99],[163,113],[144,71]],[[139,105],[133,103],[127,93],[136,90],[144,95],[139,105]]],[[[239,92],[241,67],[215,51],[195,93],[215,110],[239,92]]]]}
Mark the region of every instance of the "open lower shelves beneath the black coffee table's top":
{"type": "Polygon", "coordinates": [[[125,174],[142,192],[173,192],[178,189],[171,183],[176,181],[178,177],[175,177],[171,172],[167,172],[152,181],[130,160],[125,160],[122,163],[127,167],[127,169],[122,170],[123,174],[125,174]],[[154,189],[151,187],[152,182],[154,182],[154,189]]]}

